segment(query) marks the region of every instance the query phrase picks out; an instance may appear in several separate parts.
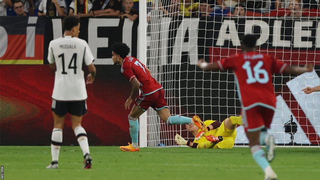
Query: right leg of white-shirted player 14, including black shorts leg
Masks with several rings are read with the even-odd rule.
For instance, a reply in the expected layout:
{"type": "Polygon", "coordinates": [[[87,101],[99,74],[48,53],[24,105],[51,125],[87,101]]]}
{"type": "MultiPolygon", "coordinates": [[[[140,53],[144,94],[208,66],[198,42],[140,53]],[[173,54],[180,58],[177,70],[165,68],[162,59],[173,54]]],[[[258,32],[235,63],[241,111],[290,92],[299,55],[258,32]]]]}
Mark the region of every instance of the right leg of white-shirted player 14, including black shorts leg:
{"type": "Polygon", "coordinates": [[[84,156],[84,168],[91,168],[91,156],[89,151],[89,143],[87,132],[81,126],[82,116],[87,113],[86,101],[69,102],[69,113],[71,114],[72,129],[75,132],[77,141],[84,156]]]}

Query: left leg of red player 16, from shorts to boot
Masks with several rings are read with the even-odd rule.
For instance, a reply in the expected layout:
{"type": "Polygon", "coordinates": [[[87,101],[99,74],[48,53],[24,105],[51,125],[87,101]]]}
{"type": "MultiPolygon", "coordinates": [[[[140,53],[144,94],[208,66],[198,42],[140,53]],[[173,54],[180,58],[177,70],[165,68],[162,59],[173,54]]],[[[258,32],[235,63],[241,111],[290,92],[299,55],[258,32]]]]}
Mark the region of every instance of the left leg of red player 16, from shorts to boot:
{"type": "Polygon", "coordinates": [[[265,157],[265,152],[260,146],[260,132],[264,128],[263,117],[260,114],[260,106],[243,111],[243,124],[249,140],[249,146],[252,153],[252,158],[265,172],[266,179],[276,179],[276,173],[271,168],[268,160],[265,157]]]}

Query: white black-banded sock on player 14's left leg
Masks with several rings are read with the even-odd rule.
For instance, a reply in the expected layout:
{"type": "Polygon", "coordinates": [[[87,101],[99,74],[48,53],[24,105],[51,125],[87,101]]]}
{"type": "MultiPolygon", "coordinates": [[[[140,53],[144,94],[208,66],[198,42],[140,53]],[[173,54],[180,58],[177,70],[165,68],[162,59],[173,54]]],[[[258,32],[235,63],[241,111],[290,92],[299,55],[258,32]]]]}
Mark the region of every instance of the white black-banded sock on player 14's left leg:
{"type": "Polygon", "coordinates": [[[62,144],[62,129],[53,128],[52,136],[51,136],[52,161],[58,162],[61,144],[62,144]]]}

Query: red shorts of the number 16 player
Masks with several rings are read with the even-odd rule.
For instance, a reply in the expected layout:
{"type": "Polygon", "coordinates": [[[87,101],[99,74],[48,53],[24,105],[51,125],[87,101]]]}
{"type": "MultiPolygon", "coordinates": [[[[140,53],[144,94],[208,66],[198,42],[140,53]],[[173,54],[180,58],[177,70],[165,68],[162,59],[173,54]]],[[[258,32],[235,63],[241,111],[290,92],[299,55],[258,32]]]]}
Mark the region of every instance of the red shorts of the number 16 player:
{"type": "Polygon", "coordinates": [[[248,110],[242,110],[242,124],[244,130],[253,132],[264,127],[270,128],[275,111],[263,106],[255,106],[248,110]]]}

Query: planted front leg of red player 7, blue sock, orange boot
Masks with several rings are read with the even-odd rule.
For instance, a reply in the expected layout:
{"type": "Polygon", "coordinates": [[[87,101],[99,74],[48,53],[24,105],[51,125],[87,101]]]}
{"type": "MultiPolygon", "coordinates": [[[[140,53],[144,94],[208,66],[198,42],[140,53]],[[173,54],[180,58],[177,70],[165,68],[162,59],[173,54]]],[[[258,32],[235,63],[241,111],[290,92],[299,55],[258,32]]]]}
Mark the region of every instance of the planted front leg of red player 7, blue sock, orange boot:
{"type": "MultiPolygon", "coordinates": [[[[142,104],[141,104],[142,105],[142,104]]],[[[148,108],[146,108],[147,110],[148,108]]],[[[145,109],[141,109],[139,106],[136,105],[136,103],[133,105],[131,112],[128,116],[129,120],[129,131],[130,131],[130,136],[132,143],[128,143],[129,145],[127,146],[120,146],[120,149],[122,151],[139,151],[139,140],[138,140],[138,135],[139,135],[139,121],[138,118],[141,114],[143,114],[145,109]]]]}

